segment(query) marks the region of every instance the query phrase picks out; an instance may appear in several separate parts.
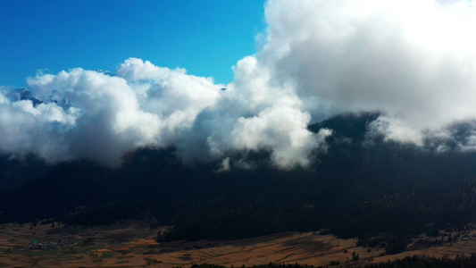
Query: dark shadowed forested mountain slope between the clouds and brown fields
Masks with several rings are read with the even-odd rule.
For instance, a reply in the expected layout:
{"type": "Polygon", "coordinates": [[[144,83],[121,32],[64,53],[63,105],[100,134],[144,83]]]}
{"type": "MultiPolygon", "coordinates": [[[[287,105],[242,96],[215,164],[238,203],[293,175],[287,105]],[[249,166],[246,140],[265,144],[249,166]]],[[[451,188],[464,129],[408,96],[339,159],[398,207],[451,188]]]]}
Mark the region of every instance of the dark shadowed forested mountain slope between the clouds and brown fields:
{"type": "MultiPolygon", "coordinates": [[[[404,250],[416,234],[475,222],[476,154],[436,153],[430,142],[416,147],[369,140],[368,124],[378,116],[347,113],[309,126],[334,131],[329,147],[315,152],[310,167],[291,171],[271,166],[266,152],[244,152],[255,168],[231,172],[216,172],[218,162],[181,163],[173,147],[131,152],[117,169],[4,155],[0,222],[92,226],[134,218],[151,228],[173,225],[161,241],[322,230],[385,245],[388,253],[404,250]]],[[[467,131],[464,124],[456,130],[462,137],[467,131]]]]}

